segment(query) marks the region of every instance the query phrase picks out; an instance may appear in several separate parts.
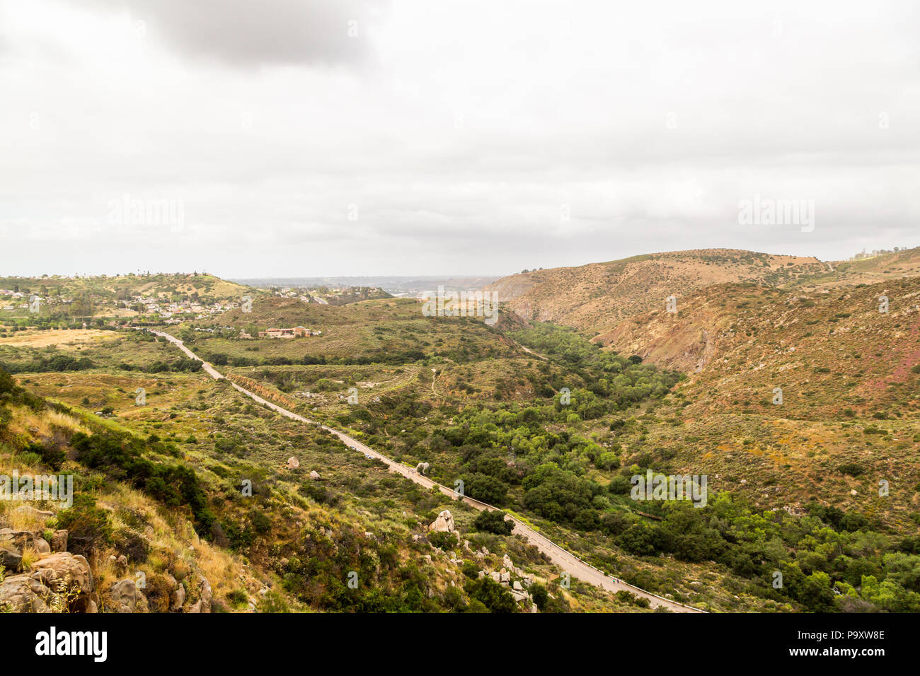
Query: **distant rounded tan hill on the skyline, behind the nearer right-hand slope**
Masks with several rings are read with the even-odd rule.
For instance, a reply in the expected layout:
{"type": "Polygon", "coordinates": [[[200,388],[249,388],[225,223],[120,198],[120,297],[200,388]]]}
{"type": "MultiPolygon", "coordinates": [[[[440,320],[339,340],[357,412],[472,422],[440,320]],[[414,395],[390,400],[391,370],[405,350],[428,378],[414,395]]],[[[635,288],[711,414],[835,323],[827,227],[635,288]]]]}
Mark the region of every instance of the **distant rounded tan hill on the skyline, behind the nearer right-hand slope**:
{"type": "Polygon", "coordinates": [[[779,285],[826,270],[817,258],[738,249],[649,254],[578,268],[536,270],[486,287],[528,320],[551,320],[597,333],[627,316],[664,307],[665,298],[712,284],[779,285]]]}

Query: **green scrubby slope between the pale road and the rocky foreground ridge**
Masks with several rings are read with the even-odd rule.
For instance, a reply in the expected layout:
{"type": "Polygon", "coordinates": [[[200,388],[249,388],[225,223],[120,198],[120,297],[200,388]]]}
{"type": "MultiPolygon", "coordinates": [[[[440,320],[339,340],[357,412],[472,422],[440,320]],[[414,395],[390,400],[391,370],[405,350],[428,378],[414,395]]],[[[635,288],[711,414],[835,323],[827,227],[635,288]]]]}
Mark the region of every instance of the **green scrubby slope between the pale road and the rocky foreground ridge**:
{"type": "MultiPolygon", "coordinates": [[[[478,561],[478,568],[498,569],[500,556],[508,553],[516,565],[527,568],[535,579],[542,579],[553,588],[551,580],[556,573],[534,550],[524,547],[516,538],[474,533],[473,510],[443,496],[428,495],[404,479],[387,475],[380,465],[356,456],[325,433],[255,406],[232,388],[214,383],[201,373],[123,372],[116,368],[115,363],[121,361],[149,366],[175,358],[172,347],[136,338],[120,336],[107,345],[87,349],[86,354],[96,368],[81,372],[22,373],[19,381],[40,395],[53,396],[68,406],[88,410],[110,407],[110,417],[101,424],[132,430],[142,437],[155,434],[175,442],[181,452],[180,460],[195,469],[224,526],[222,533],[209,533],[213,550],[222,553],[224,561],[229,560],[227,556],[236,556],[233,552],[245,554],[259,579],[275,590],[282,590],[285,602],[294,608],[382,609],[375,605],[381,602],[379,594],[399,600],[407,594],[411,596],[416,587],[421,598],[427,596],[429,589],[433,593],[428,601],[411,597],[411,602],[421,603],[420,609],[462,607],[469,599],[460,594],[458,600],[456,592],[448,592],[452,581],[461,584],[464,579],[459,567],[449,562],[455,555],[434,549],[426,542],[425,526],[443,509],[454,512],[458,526],[474,549],[485,545],[491,552],[498,552],[478,561]],[[147,391],[144,407],[134,404],[134,390],[139,386],[147,391]],[[300,461],[300,468],[295,470],[284,466],[292,455],[300,461]],[[321,482],[309,481],[311,470],[320,473],[321,482]],[[240,498],[238,483],[242,478],[254,482],[258,511],[269,518],[264,533],[257,530],[264,528],[264,524],[259,526],[254,513],[257,506],[240,498]],[[302,489],[305,484],[310,487],[306,493],[302,489]],[[235,532],[228,530],[230,526],[235,527],[235,532]],[[361,556],[362,550],[367,554],[361,556]],[[422,557],[425,554],[432,556],[431,564],[425,563],[422,557]],[[352,561],[352,556],[358,558],[352,561]],[[367,591],[366,595],[355,594],[353,601],[349,592],[343,590],[349,569],[362,571],[366,585],[362,590],[367,591]]],[[[39,440],[44,437],[40,432],[31,436],[39,440]]],[[[17,443],[21,445],[21,441],[17,443]]],[[[4,446],[11,461],[21,457],[16,448],[16,443],[4,446]]],[[[78,464],[72,468],[83,474],[78,464]]],[[[126,491],[136,495],[136,491],[120,482],[106,484],[105,499],[116,513],[124,507],[119,500],[126,491]]],[[[147,523],[161,519],[172,525],[178,523],[177,518],[176,510],[148,504],[143,520],[147,523]]],[[[177,537],[190,537],[189,528],[179,528],[177,537]]],[[[103,570],[108,553],[109,549],[98,553],[98,570],[103,570]]],[[[461,556],[473,558],[469,553],[461,556]]],[[[151,557],[153,563],[145,571],[151,576],[165,575],[171,570],[164,563],[167,559],[171,560],[168,556],[163,561],[151,557]]],[[[226,607],[238,605],[239,584],[232,574],[236,569],[229,564],[216,567],[225,567],[226,574],[212,580],[215,598],[226,607]]],[[[255,583],[248,586],[254,587],[255,583]]],[[[247,588],[247,593],[255,591],[247,588]]],[[[581,586],[571,592],[556,589],[556,594],[560,609],[635,609],[628,602],[598,595],[595,590],[581,586]]]]}

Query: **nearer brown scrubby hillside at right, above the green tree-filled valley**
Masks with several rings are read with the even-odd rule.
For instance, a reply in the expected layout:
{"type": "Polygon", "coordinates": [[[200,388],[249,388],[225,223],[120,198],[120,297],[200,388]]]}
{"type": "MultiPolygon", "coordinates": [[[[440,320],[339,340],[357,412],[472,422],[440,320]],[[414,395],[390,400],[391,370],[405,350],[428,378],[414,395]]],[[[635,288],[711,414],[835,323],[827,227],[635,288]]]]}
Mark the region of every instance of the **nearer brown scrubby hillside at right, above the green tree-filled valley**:
{"type": "Polygon", "coordinates": [[[916,532],[920,278],[813,293],[719,285],[595,342],[689,373],[659,411],[674,427],[655,427],[637,455],[654,449],[657,465],[757,504],[798,512],[817,498],[916,532]]]}

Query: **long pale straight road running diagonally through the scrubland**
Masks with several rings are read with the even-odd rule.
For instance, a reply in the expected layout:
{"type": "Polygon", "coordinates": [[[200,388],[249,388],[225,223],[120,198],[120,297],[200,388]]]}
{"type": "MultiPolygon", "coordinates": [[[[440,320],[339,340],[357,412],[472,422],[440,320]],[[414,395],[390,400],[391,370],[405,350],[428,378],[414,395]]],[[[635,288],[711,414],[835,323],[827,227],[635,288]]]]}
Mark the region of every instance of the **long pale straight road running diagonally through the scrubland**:
{"type": "MultiPolygon", "coordinates": [[[[178,338],[171,336],[168,333],[164,333],[163,331],[155,331],[153,329],[148,329],[148,330],[151,333],[153,333],[155,336],[166,338],[169,342],[176,345],[178,349],[181,349],[183,352],[185,352],[185,354],[188,355],[190,359],[201,361],[202,368],[204,369],[204,371],[207,372],[214,380],[224,379],[224,376],[221,375],[220,372],[217,372],[217,370],[214,369],[214,367],[210,363],[202,360],[201,357],[199,357],[194,352],[192,352],[190,349],[185,347],[185,344],[178,338]]],[[[405,476],[406,478],[410,479],[411,481],[414,481],[420,486],[427,487],[427,488],[437,487],[438,490],[440,490],[444,495],[450,496],[451,498],[460,498],[460,496],[457,495],[454,489],[443,486],[443,484],[439,484],[436,481],[431,480],[428,476],[420,475],[418,472],[416,472],[411,467],[407,467],[404,464],[397,463],[397,461],[393,460],[392,458],[386,457],[382,453],[377,453],[370,446],[367,446],[366,444],[363,444],[361,441],[354,439],[353,437],[349,436],[345,432],[335,430],[334,428],[327,427],[326,425],[322,425],[316,422],[315,420],[304,418],[303,416],[293,413],[293,411],[289,411],[286,408],[282,408],[278,406],[277,404],[270,402],[267,399],[264,399],[263,397],[259,395],[249,392],[245,387],[241,387],[240,385],[234,383],[231,380],[227,380],[227,382],[233,385],[234,388],[236,388],[236,390],[238,390],[242,394],[247,395],[251,399],[259,402],[259,404],[263,404],[271,408],[272,410],[280,413],[282,416],[285,416],[286,418],[291,418],[292,420],[297,420],[299,422],[305,422],[310,425],[319,425],[319,427],[321,427],[323,430],[326,430],[330,432],[331,434],[334,434],[336,437],[338,437],[339,440],[342,441],[349,448],[355,449],[356,451],[360,451],[361,453],[364,453],[365,455],[370,455],[371,457],[377,460],[380,460],[382,463],[386,464],[387,467],[389,467],[390,471],[397,472],[398,474],[405,476]]],[[[497,507],[493,507],[492,505],[486,504],[485,502],[481,502],[480,500],[477,500],[474,498],[463,497],[462,499],[464,502],[466,502],[467,505],[474,507],[477,510],[498,510],[499,509],[497,507]]],[[[665,599],[661,596],[657,596],[656,594],[652,594],[650,591],[641,590],[638,587],[634,587],[633,585],[628,584],[627,582],[624,582],[620,579],[612,578],[611,576],[607,575],[606,573],[599,570],[598,568],[593,567],[591,564],[586,563],[585,561],[582,561],[581,558],[579,558],[578,556],[575,556],[574,554],[569,552],[567,549],[563,549],[558,544],[555,544],[549,538],[547,538],[546,535],[537,533],[533,528],[525,525],[523,521],[520,521],[519,519],[512,517],[510,514],[508,515],[507,518],[514,521],[514,530],[512,531],[512,533],[521,535],[528,543],[534,545],[538,550],[543,552],[554,564],[556,564],[558,567],[562,568],[562,570],[569,573],[569,575],[573,578],[581,579],[581,581],[583,582],[587,582],[588,584],[592,584],[595,587],[600,587],[608,591],[624,590],[624,591],[632,592],[638,597],[641,597],[643,599],[648,599],[652,606],[654,607],[663,606],[664,608],[667,608],[668,610],[671,610],[674,613],[706,613],[706,611],[702,611],[698,608],[693,608],[691,606],[684,605],[683,603],[672,601],[671,599],[665,599]]]]}

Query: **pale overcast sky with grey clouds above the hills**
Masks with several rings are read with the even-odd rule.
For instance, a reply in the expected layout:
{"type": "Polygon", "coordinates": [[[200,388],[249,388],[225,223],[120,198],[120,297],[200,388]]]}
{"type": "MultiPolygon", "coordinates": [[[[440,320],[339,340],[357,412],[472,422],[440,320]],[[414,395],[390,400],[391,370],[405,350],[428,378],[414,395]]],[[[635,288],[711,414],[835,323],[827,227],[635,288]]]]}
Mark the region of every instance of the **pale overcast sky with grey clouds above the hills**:
{"type": "Polygon", "coordinates": [[[917,246],[918,47],[915,2],[0,0],[0,275],[917,246]]]}

